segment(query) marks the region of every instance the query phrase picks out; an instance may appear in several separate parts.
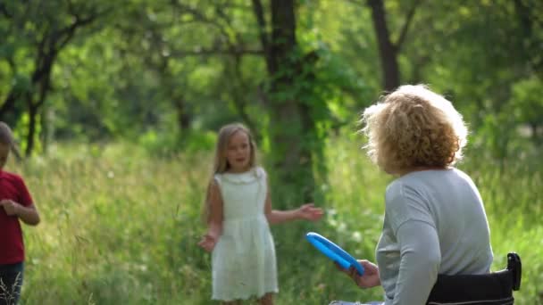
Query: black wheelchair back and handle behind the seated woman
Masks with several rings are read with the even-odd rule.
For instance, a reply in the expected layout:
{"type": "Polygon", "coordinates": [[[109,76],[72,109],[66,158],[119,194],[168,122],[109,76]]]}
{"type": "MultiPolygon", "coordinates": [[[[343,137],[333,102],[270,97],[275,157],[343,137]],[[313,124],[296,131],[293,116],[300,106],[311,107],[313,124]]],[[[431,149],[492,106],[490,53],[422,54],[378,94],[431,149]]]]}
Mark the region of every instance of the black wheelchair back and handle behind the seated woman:
{"type": "Polygon", "coordinates": [[[514,304],[513,291],[521,289],[522,263],[518,254],[507,254],[507,268],[487,275],[439,275],[427,305],[514,304]]]}

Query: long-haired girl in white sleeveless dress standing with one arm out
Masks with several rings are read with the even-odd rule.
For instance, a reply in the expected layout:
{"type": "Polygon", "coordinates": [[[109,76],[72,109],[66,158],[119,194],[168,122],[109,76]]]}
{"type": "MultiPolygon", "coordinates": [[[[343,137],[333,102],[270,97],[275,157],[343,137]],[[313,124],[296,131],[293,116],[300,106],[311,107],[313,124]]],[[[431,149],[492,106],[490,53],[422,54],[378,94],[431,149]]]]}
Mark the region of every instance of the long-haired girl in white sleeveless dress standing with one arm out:
{"type": "Polygon", "coordinates": [[[212,251],[213,300],[235,304],[251,297],[273,304],[278,293],[275,246],[269,224],[318,220],[312,203],[296,210],[272,210],[267,176],[256,166],[256,146],[247,128],[221,128],[213,177],[207,189],[207,232],[198,243],[212,251]]]}

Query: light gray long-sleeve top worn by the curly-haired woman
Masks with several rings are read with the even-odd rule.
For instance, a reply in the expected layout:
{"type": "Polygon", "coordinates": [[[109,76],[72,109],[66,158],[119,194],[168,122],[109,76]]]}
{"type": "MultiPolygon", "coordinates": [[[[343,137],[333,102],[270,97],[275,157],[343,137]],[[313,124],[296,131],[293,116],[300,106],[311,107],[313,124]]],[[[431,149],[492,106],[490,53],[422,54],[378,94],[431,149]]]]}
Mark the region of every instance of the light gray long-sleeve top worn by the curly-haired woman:
{"type": "Polygon", "coordinates": [[[463,171],[406,174],[388,185],[385,201],[376,259],[386,305],[424,304],[438,274],[489,272],[489,223],[463,171]]]}

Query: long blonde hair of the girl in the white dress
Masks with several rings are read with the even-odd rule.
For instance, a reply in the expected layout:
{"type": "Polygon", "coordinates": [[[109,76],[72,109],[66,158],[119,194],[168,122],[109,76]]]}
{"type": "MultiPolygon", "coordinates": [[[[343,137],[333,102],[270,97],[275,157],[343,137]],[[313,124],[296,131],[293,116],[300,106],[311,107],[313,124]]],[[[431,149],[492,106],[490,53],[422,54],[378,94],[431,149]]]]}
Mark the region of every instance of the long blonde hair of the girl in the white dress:
{"type": "Polygon", "coordinates": [[[249,167],[253,168],[256,165],[256,144],[249,128],[246,128],[243,124],[240,123],[231,123],[223,126],[219,130],[219,136],[217,136],[217,144],[215,145],[215,156],[213,161],[213,173],[211,175],[209,185],[207,186],[207,192],[205,194],[204,210],[202,213],[202,218],[205,220],[205,223],[209,222],[210,217],[209,197],[214,176],[216,174],[224,173],[230,169],[230,164],[228,163],[228,160],[226,158],[228,144],[230,142],[230,138],[234,136],[234,134],[236,134],[238,131],[244,132],[249,139],[249,146],[251,150],[249,157],[249,167]]]}

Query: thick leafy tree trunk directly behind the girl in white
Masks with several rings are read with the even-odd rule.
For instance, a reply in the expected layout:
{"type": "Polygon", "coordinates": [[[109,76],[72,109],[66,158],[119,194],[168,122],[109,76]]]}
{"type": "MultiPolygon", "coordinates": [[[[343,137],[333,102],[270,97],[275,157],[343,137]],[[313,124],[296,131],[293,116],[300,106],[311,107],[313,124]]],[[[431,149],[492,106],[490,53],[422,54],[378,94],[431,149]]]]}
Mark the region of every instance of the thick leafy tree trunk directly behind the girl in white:
{"type": "Polygon", "coordinates": [[[288,194],[309,202],[315,184],[310,149],[314,122],[310,111],[305,111],[305,117],[301,114],[302,103],[292,93],[292,84],[299,80],[295,68],[301,64],[296,56],[295,5],[293,0],[272,0],[271,5],[272,39],[264,49],[271,78],[272,164],[283,187],[292,188],[288,194]]]}

